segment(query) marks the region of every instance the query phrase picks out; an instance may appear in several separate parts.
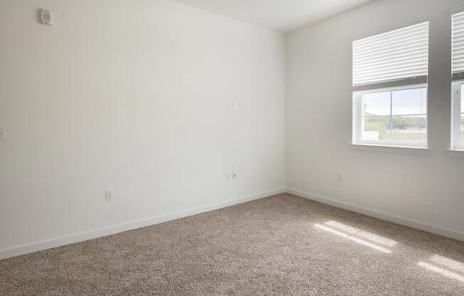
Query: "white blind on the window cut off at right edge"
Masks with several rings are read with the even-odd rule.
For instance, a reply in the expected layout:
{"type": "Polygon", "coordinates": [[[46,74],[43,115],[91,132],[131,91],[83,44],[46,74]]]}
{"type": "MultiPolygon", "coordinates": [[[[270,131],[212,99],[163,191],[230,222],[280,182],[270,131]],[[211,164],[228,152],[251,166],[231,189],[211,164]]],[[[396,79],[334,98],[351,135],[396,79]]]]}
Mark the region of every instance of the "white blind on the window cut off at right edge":
{"type": "Polygon", "coordinates": [[[453,80],[464,79],[464,12],[453,15],[453,80]]]}

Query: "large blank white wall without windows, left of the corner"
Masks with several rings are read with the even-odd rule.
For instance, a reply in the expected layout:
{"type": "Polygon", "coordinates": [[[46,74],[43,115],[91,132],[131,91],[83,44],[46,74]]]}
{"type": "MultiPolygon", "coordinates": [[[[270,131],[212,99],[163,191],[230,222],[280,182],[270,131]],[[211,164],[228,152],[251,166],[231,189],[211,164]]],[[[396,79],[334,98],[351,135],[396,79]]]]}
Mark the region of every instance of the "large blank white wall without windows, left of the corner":
{"type": "Polygon", "coordinates": [[[285,187],[282,34],[168,0],[2,0],[0,36],[0,257],[285,187]]]}

